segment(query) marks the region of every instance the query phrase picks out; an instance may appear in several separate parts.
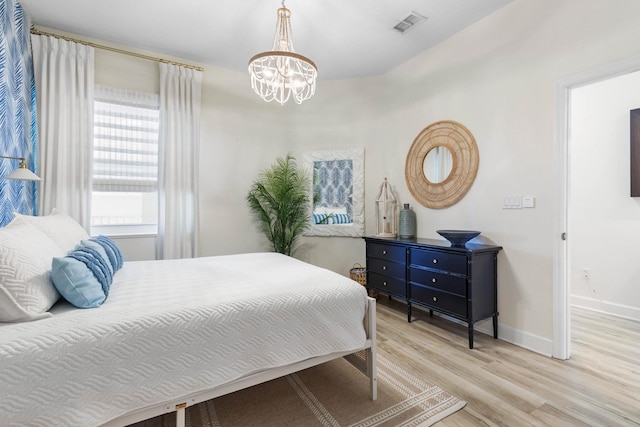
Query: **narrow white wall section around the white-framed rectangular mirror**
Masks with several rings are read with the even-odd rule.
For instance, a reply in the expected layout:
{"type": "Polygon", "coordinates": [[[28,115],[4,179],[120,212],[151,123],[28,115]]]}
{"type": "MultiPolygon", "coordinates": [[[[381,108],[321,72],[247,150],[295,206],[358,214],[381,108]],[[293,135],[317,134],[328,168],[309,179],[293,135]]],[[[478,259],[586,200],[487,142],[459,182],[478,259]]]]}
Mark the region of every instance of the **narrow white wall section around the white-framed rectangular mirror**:
{"type": "MultiPolygon", "coordinates": [[[[379,78],[321,81],[316,95],[289,112],[291,150],[301,158],[304,151],[364,148],[365,233],[375,233],[375,197],[391,171],[378,153],[387,145],[376,141],[381,130],[379,78]],[[372,228],[373,227],[373,228],[372,228]],[[373,230],[373,231],[372,231],[373,230]]],[[[393,183],[393,181],[392,181],[393,183]]],[[[344,275],[355,263],[365,265],[361,238],[304,237],[296,257],[344,275]]]]}

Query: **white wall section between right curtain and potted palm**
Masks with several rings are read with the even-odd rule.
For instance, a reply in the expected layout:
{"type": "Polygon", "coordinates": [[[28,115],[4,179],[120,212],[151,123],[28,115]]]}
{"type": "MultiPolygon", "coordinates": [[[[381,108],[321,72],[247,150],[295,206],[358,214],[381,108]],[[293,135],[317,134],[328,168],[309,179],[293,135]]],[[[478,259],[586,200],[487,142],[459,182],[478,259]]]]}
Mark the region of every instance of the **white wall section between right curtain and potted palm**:
{"type": "Polygon", "coordinates": [[[206,68],[202,99],[200,255],[267,250],[246,196],[258,174],[287,154],[284,111],[257,102],[245,73],[219,68],[206,68]]]}

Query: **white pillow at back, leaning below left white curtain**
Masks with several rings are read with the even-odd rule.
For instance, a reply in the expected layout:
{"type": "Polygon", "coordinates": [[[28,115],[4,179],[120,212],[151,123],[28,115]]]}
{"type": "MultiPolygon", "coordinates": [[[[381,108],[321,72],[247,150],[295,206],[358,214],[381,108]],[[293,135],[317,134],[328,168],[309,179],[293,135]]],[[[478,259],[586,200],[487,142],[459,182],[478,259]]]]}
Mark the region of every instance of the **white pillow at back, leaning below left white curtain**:
{"type": "Polygon", "coordinates": [[[54,209],[51,215],[31,216],[19,213],[13,214],[18,222],[32,224],[57,244],[64,253],[71,252],[81,241],[88,239],[89,234],[80,224],[64,212],[54,209]]]}

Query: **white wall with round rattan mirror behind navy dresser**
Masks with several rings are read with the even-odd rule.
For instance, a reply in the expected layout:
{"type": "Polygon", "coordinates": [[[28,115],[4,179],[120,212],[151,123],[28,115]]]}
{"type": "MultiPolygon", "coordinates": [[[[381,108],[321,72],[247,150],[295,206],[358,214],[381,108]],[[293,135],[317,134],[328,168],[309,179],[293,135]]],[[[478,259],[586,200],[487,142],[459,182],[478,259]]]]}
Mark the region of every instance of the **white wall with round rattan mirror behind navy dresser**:
{"type": "MultiPolygon", "coordinates": [[[[440,228],[482,230],[486,242],[504,248],[498,279],[501,336],[545,354],[551,354],[553,339],[553,247],[559,238],[553,235],[559,209],[554,205],[555,84],[640,53],[638,16],[640,3],[633,0],[516,0],[384,76],[350,82],[349,103],[359,104],[365,117],[359,111],[349,116],[346,109],[344,118],[327,113],[333,140],[366,148],[367,232],[375,231],[371,208],[385,176],[400,203],[414,206],[419,236],[438,238],[440,228]],[[480,168],[465,198],[433,210],[411,197],[404,162],[415,136],[438,120],[469,128],[479,146],[480,168]],[[503,210],[509,194],[534,195],[536,207],[503,210]]],[[[321,101],[333,98],[340,107],[345,83],[329,82],[320,93],[321,101]]],[[[319,121],[327,117],[321,109],[314,108],[319,121]]],[[[327,133],[309,135],[304,147],[315,148],[327,133]]],[[[314,245],[317,257],[364,256],[355,242],[345,242],[343,250],[335,239],[314,245]]],[[[331,268],[344,271],[344,261],[332,262],[331,268]]]]}

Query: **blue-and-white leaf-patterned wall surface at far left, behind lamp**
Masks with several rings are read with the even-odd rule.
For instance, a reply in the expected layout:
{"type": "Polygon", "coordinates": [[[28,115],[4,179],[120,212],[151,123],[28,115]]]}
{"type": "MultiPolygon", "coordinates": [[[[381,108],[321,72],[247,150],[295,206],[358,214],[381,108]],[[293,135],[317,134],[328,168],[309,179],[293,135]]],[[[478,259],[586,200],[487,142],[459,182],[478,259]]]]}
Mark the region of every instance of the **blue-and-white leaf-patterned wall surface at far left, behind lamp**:
{"type": "MultiPolygon", "coordinates": [[[[0,0],[0,155],[24,157],[35,171],[36,90],[29,17],[16,0],[0,0]]],[[[0,159],[0,226],[13,212],[36,213],[36,184],[4,179],[18,160],[0,159]]]]}

